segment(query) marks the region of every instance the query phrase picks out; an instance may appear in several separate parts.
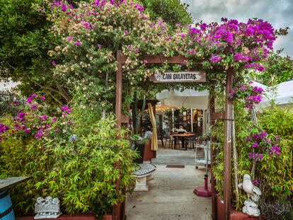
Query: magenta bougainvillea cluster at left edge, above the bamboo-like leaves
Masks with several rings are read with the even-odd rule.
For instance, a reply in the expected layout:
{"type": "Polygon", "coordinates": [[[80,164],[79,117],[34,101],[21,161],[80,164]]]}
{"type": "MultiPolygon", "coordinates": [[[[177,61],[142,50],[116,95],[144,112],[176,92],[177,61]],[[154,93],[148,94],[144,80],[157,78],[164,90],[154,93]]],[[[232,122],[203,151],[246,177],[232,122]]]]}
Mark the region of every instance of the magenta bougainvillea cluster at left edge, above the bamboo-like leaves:
{"type": "Polygon", "coordinates": [[[0,141],[8,136],[34,137],[43,139],[48,135],[57,134],[64,130],[64,126],[70,125],[71,121],[67,115],[71,109],[65,105],[60,110],[61,116],[50,117],[45,114],[45,96],[33,94],[30,95],[23,105],[18,105],[18,113],[11,120],[11,125],[0,123],[0,141]]]}

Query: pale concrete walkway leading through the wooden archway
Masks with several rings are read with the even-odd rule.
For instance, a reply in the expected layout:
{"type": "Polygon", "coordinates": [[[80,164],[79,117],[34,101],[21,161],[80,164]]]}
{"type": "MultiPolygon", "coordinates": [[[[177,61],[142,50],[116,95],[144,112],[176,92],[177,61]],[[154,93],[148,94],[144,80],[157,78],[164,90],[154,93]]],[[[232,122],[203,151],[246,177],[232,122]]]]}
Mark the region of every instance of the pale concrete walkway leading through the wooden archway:
{"type": "MultiPolygon", "coordinates": [[[[169,155],[173,154],[168,151],[169,155]]],[[[175,150],[174,154],[187,152],[175,150]]],[[[189,154],[192,152],[189,151],[189,154]]],[[[157,156],[159,158],[160,154],[157,156]]],[[[181,155],[181,158],[184,156],[181,155]]],[[[148,182],[149,192],[127,195],[127,220],[212,219],[212,199],[193,194],[195,187],[204,184],[204,167],[196,170],[194,165],[166,168],[165,164],[156,164],[156,168],[154,180],[148,182]]]]}

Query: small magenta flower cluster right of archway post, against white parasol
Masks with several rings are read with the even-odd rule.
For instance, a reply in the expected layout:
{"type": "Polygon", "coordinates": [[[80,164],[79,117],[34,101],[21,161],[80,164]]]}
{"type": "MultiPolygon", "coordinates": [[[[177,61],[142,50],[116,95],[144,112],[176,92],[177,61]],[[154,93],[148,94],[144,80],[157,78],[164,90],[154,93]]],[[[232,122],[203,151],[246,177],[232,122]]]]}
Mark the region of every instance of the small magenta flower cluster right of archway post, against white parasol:
{"type": "Polygon", "coordinates": [[[244,100],[246,108],[251,109],[255,104],[261,102],[263,92],[263,88],[258,86],[251,86],[250,83],[244,85],[241,84],[232,88],[228,98],[230,100],[244,100]]]}

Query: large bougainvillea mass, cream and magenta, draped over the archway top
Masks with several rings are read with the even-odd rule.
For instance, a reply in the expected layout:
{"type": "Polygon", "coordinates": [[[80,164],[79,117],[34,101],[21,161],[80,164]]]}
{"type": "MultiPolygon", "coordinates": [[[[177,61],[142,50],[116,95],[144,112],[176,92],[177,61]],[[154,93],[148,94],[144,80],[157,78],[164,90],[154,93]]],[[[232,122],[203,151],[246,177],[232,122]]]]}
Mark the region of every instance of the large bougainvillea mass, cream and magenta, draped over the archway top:
{"type": "Polygon", "coordinates": [[[182,66],[188,68],[196,60],[203,62],[205,68],[261,71],[260,62],[268,57],[276,39],[272,25],[260,19],[241,23],[223,18],[222,23],[178,24],[170,28],[160,19],[151,21],[144,7],[135,1],[95,0],[78,4],[77,8],[66,1],[54,1],[50,6],[52,13],[47,19],[52,21],[52,32],[61,42],[48,54],[54,59],[54,77],[70,86],[76,86],[93,71],[100,76],[115,72],[113,52],[117,45],[128,57],[122,68],[134,85],[166,70],[140,60],[144,54],[183,55],[187,62],[182,66]]]}

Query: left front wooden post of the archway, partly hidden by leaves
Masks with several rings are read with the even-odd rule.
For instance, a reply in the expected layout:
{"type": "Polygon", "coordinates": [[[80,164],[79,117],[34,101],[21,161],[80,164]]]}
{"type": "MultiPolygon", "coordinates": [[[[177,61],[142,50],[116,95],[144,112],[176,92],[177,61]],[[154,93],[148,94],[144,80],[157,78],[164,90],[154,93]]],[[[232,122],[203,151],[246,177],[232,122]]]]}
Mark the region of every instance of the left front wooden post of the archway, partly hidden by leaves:
{"type": "MultiPolygon", "coordinates": [[[[117,74],[116,74],[116,106],[115,106],[115,112],[116,112],[116,128],[120,129],[121,127],[121,120],[122,120],[122,64],[120,62],[121,59],[121,52],[117,51],[117,74]]],[[[120,164],[119,162],[115,163],[115,168],[119,169],[120,164]]],[[[115,180],[115,187],[116,192],[118,193],[120,191],[120,180],[115,180]]],[[[120,220],[121,219],[121,210],[120,210],[120,204],[116,204],[113,207],[113,220],[120,220]]],[[[122,216],[123,217],[123,216],[122,216]]]]}

